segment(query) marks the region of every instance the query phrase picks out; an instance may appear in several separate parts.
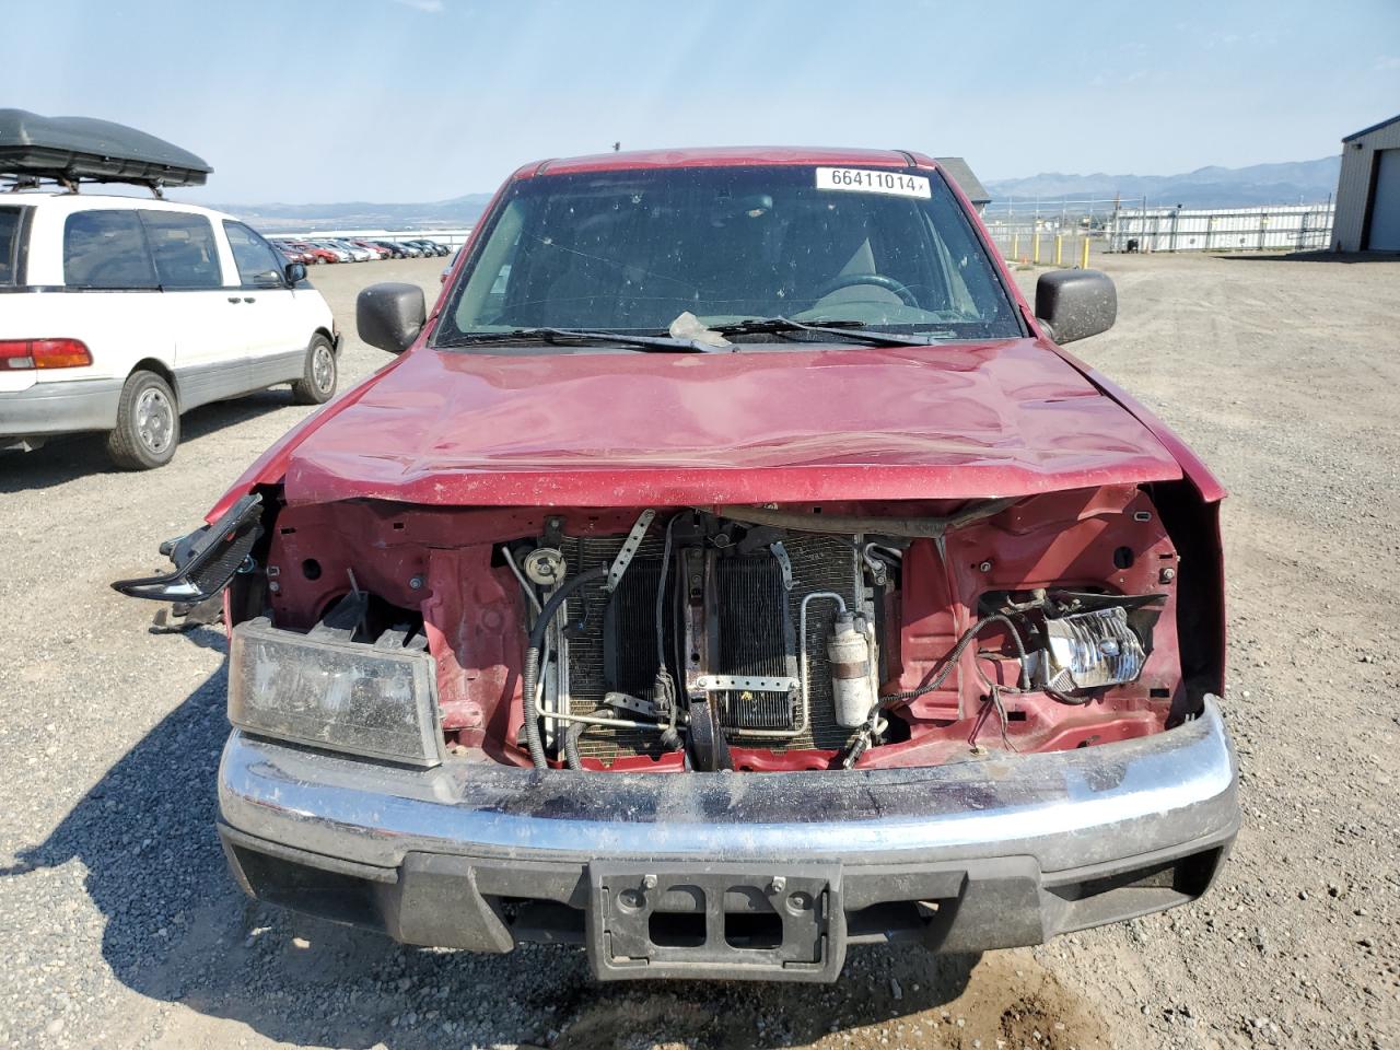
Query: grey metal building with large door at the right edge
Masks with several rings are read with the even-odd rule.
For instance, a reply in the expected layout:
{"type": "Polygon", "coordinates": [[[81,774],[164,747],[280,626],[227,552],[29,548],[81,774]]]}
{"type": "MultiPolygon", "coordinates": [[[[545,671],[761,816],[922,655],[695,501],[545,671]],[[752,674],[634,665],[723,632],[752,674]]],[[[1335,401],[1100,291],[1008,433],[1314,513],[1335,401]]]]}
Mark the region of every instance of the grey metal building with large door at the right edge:
{"type": "Polygon", "coordinates": [[[1341,140],[1338,252],[1400,252],[1400,113],[1341,140]]]}

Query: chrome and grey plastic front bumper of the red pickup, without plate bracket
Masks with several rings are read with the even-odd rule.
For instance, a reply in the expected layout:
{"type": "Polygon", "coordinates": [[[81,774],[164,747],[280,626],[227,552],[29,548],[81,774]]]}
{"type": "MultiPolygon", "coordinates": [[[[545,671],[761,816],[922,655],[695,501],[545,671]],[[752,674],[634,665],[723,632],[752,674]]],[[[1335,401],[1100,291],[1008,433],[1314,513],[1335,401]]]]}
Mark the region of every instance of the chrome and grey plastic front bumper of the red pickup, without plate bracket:
{"type": "MultiPolygon", "coordinates": [[[[1239,826],[1214,699],[1149,738],[844,773],[540,774],[465,762],[423,771],[234,732],[218,804],[249,893],[477,951],[582,939],[596,911],[592,869],[617,864],[697,879],[825,865],[839,872],[843,951],[896,935],[960,951],[1036,944],[1200,896],[1239,826]],[[304,892],[308,871],[325,876],[319,896],[304,892]],[[344,892],[328,895],[330,885],[344,892]],[[356,893],[347,909],[340,897],[356,893]],[[571,909],[580,937],[560,932],[567,921],[522,924],[501,900],[571,909]],[[897,916],[895,904],[907,907],[897,916]]],[[[743,976],[612,973],[589,944],[602,977],[743,976]]],[[[833,977],[827,966],[799,979],[833,977]]]]}

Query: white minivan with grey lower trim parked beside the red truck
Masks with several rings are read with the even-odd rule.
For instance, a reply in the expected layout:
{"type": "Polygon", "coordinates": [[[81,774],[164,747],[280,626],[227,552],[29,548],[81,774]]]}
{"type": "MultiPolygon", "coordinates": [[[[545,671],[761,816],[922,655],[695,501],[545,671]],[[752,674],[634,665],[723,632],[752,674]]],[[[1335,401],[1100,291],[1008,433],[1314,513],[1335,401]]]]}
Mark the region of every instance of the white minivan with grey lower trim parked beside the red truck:
{"type": "Polygon", "coordinates": [[[305,267],[232,216],[0,195],[0,448],[106,431],[118,466],[161,466],[188,409],[281,382],[328,400],[339,350],[305,267]]]}

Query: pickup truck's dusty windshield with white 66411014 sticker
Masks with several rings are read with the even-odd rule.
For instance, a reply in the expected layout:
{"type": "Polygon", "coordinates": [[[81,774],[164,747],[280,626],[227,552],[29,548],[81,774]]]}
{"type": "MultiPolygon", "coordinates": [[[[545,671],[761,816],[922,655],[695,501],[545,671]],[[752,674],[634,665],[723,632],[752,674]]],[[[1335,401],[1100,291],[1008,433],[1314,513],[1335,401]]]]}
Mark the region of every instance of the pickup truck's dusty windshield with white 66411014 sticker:
{"type": "Polygon", "coordinates": [[[1021,322],[937,174],[666,168],[521,179],[489,220],[437,344],[556,328],[665,332],[844,321],[931,340],[1021,322]]]}

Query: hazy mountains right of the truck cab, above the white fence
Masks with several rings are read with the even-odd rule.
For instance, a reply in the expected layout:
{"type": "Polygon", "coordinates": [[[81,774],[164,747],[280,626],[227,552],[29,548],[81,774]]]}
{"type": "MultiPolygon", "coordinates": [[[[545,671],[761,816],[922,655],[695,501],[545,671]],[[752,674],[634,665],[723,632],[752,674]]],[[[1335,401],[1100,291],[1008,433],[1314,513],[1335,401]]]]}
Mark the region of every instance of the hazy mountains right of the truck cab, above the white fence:
{"type": "Polygon", "coordinates": [[[1008,197],[1082,200],[1121,197],[1134,204],[1147,196],[1149,207],[1236,207],[1252,204],[1310,204],[1337,192],[1340,157],[1247,168],[1197,168],[1184,175],[1061,175],[1046,172],[1023,179],[990,179],[991,210],[1008,197]]]}

